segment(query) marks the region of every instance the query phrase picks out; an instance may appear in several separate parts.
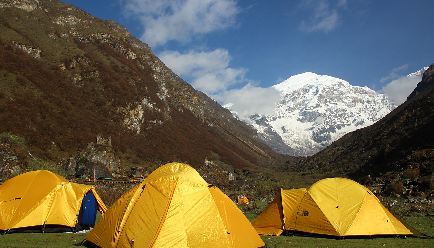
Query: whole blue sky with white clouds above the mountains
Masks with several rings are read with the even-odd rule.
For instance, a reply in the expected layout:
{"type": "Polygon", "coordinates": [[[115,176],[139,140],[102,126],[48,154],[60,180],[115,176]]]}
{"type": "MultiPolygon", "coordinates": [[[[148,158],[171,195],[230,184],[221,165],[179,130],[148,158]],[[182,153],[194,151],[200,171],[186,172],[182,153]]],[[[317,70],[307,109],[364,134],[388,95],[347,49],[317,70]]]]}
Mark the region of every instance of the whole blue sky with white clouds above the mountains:
{"type": "Polygon", "coordinates": [[[220,104],[270,114],[270,86],[307,71],[400,104],[434,63],[433,0],[64,0],[114,20],[220,104]]]}

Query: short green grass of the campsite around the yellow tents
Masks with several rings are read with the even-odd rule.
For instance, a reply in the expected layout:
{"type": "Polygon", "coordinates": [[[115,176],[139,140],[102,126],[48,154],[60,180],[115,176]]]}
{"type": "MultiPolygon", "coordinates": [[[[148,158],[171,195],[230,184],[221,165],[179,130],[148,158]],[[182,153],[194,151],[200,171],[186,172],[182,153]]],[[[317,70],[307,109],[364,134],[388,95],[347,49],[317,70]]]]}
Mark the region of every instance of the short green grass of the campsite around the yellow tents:
{"type": "MultiPolygon", "coordinates": [[[[389,202],[396,200],[389,199],[389,202]]],[[[258,208],[247,210],[240,206],[250,222],[255,219],[266,207],[265,202],[258,202],[258,208]]],[[[397,203],[395,203],[397,205],[397,203]]],[[[404,204],[405,206],[405,204],[404,204]]],[[[426,212],[411,212],[410,216],[403,216],[405,222],[422,233],[434,236],[434,216],[427,215],[426,212]]],[[[100,217],[98,214],[97,217],[100,217]]],[[[88,233],[23,233],[0,235],[0,248],[73,248],[75,244],[84,240],[88,233]]],[[[329,238],[310,238],[300,236],[267,236],[260,235],[262,240],[270,248],[407,248],[434,247],[434,239],[427,237],[407,237],[407,238],[373,238],[373,239],[329,239],[329,238]]]]}

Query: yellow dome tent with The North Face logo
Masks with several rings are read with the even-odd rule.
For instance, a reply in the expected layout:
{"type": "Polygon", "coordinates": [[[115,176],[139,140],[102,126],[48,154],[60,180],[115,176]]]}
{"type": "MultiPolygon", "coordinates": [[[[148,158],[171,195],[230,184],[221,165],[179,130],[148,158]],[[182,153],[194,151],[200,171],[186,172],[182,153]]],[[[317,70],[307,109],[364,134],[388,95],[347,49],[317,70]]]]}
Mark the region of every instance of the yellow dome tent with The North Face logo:
{"type": "Polygon", "coordinates": [[[281,189],[252,225],[263,235],[280,235],[284,230],[339,237],[421,235],[389,212],[368,188],[345,178],[281,189]]]}

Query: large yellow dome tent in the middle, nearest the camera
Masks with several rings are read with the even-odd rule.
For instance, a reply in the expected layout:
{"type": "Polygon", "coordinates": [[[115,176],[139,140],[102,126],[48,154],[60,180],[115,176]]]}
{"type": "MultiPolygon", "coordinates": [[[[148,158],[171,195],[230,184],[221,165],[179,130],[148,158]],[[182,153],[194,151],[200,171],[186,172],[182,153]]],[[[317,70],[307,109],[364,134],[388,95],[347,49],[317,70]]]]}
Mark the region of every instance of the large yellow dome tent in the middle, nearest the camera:
{"type": "Polygon", "coordinates": [[[240,209],[191,166],[170,163],[122,195],[85,238],[102,248],[258,248],[240,209]]]}

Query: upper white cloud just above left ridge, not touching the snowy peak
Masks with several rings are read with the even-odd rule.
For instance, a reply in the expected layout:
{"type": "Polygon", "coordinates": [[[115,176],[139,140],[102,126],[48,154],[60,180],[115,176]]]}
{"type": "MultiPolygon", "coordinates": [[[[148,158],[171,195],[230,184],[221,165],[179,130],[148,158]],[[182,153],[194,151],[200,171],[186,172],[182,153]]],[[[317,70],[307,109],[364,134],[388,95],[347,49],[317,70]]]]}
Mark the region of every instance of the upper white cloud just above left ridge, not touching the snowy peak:
{"type": "Polygon", "coordinates": [[[231,85],[243,83],[245,68],[231,68],[231,57],[226,49],[210,52],[190,50],[187,53],[164,51],[158,55],[164,64],[179,76],[194,78],[191,86],[207,94],[215,94],[231,85]]]}

